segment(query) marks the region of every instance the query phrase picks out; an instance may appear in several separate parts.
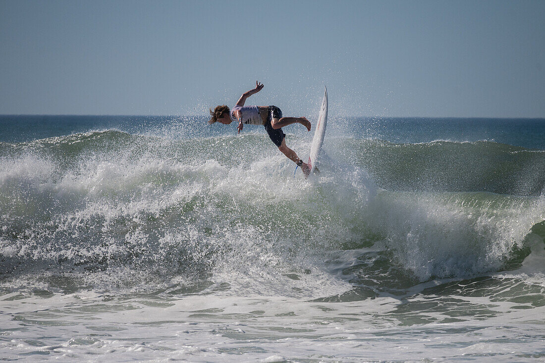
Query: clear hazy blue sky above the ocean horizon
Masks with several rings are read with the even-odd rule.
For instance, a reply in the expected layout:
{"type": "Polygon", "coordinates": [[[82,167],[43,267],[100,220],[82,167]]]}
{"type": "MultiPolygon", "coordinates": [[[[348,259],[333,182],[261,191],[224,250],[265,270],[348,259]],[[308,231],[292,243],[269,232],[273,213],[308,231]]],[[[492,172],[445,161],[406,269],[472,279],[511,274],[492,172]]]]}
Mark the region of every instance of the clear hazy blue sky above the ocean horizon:
{"type": "Polygon", "coordinates": [[[3,1],[0,113],[545,117],[543,1],[3,1]]]}

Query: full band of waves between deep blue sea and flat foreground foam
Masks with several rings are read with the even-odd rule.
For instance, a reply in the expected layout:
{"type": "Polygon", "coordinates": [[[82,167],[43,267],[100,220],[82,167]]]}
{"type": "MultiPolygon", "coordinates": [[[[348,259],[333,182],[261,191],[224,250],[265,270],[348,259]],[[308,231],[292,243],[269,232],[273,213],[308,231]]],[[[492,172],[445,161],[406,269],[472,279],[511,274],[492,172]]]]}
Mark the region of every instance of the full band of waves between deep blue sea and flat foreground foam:
{"type": "Polygon", "coordinates": [[[517,269],[543,244],[543,151],[329,142],[310,181],[259,134],[0,143],[1,283],[320,297],[346,271],[402,288],[517,269]]]}

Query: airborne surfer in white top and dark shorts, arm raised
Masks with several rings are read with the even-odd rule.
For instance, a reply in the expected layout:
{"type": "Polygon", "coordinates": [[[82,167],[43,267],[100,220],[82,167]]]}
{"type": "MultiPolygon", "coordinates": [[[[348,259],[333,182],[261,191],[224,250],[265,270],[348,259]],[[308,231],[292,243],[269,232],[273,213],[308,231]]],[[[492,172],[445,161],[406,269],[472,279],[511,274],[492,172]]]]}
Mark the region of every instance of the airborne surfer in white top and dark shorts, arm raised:
{"type": "Polygon", "coordinates": [[[229,110],[226,105],[216,106],[214,111],[210,108],[210,120],[208,124],[215,122],[229,125],[233,121],[238,122],[238,133],[244,128],[244,124],[263,125],[272,142],[278,147],[289,160],[292,160],[301,167],[305,177],[310,173],[310,167],[306,162],[299,159],[299,156],[286,146],[286,134],[282,131],[283,126],[299,123],[310,131],[311,124],[306,117],[282,117],[282,111],[276,106],[244,106],[244,102],[252,94],[258,93],[263,89],[263,84],[256,82],[256,88],[250,89],[248,92],[240,96],[235,107],[229,110]]]}

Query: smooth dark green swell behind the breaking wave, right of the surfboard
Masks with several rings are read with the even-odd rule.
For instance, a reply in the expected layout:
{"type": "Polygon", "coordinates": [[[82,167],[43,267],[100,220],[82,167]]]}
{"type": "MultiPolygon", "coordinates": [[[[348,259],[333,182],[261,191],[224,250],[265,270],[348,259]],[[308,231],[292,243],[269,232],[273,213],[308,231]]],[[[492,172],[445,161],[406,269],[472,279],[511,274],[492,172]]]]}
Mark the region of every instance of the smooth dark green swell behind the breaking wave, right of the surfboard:
{"type": "Polygon", "coordinates": [[[343,158],[370,171],[384,189],[532,196],[545,190],[545,150],[490,141],[396,144],[347,139],[340,143],[343,158]]]}

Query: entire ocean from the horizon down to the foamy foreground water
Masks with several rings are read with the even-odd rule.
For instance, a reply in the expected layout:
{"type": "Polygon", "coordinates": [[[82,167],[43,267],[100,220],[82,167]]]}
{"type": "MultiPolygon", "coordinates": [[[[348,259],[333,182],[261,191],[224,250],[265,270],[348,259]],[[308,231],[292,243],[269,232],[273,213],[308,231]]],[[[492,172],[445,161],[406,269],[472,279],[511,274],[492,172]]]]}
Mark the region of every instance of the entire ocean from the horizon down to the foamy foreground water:
{"type": "Polygon", "coordinates": [[[0,359],[545,360],[545,119],[206,120],[0,116],[0,359]]]}

